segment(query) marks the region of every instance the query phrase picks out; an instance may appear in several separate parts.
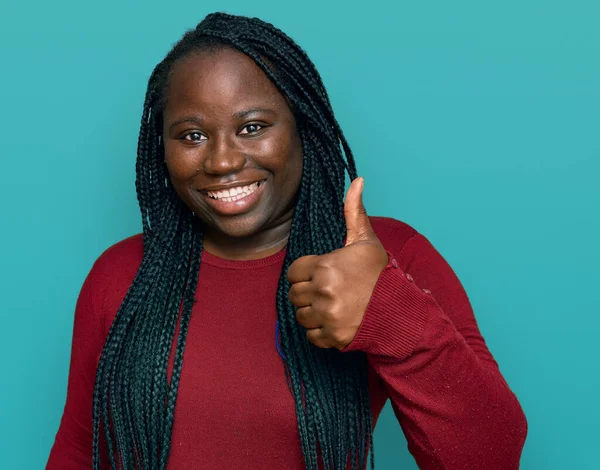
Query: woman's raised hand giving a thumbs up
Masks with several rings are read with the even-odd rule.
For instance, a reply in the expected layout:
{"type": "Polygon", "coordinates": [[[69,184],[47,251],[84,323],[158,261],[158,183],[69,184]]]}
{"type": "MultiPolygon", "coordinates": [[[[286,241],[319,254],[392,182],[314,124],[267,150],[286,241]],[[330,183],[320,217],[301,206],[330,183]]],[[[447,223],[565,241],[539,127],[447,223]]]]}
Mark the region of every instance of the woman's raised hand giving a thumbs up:
{"type": "Polygon", "coordinates": [[[296,319],[308,340],[321,348],[344,349],[352,342],[388,264],[362,202],[363,186],[363,178],[356,178],[346,194],[346,245],[326,255],[298,258],[287,273],[296,319]]]}

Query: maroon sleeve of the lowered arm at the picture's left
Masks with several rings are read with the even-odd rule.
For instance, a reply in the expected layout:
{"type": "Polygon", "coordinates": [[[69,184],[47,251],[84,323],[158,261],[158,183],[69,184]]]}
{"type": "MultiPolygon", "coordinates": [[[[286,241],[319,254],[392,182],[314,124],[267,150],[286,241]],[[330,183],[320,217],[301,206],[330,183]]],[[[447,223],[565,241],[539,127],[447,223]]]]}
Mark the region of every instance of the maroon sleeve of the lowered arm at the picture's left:
{"type": "Polygon", "coordinates": [[[75,308],[67,400],[46,468],[92,468],[92,396],[96,366],[105,341],[100,315],[103,282],[97,262],[88,274],[75,308]]]}

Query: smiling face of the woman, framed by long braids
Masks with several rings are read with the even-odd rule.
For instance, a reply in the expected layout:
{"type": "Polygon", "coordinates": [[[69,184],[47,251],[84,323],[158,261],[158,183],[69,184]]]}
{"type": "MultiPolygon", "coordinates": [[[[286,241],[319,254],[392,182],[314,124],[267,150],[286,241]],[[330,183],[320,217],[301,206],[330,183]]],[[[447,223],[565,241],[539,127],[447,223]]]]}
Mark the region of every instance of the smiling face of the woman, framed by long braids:
{"type": "Polygon", "coordinates": [[[289,224],[302,176],[296,121],[246,55],[199,51],[177,62],[163,110],[173,187],[210,237],[289,224]]]}

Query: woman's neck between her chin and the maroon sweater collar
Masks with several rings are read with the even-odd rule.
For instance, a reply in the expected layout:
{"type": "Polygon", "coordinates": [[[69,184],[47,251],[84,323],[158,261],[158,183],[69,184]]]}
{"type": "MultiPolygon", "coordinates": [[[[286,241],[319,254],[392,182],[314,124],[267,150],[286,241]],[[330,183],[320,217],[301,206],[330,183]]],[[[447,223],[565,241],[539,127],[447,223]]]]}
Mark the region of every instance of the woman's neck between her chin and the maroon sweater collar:
{"type": "Polygon", "coordinates": [[[247,261],[266,258],[287,245],[291,219],[273,228],[244,238],[229,237],[223,233],[205,232],[204,250],[224,259],[247,261]]]}

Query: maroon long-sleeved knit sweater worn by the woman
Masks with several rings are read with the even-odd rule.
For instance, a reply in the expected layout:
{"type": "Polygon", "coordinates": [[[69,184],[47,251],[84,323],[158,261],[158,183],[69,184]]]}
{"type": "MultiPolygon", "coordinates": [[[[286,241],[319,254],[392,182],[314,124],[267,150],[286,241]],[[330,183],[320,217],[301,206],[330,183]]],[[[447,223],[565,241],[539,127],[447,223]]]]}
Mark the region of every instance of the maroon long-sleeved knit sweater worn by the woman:
{"type": "MultiPolygon", "coordinates": [[[[380,217],[371,223],[392,258],[346,349],[367,354],[375,422],[390,399],[421,469],[518,468],[525,416],[459,280],[408,225],[380,217]]],[[[117,243],[83,285],[67,401],[48,469],[91,468],[96,365],[142,254],[140,235],[117,243]]],[[[304,469],[293,397],[275,345],[284,256],[231,261],[203,253],[169,468],[304,469]]]]}

